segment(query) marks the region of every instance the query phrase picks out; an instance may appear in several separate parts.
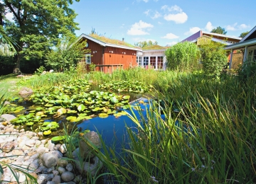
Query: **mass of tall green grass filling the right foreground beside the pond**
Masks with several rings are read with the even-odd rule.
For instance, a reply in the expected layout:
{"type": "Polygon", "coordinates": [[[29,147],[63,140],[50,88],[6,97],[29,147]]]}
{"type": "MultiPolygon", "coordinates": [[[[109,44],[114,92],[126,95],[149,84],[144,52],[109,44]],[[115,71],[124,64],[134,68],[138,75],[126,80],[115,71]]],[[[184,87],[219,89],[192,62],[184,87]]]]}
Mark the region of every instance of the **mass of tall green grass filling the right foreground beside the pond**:
{"type": "Polygon", "coordinates": [[[255,183],[255,88],[255,78],[181,76],[159,93],[164,103],[130,116],[131,149],[91,146],[119,183],[255,183]]]}

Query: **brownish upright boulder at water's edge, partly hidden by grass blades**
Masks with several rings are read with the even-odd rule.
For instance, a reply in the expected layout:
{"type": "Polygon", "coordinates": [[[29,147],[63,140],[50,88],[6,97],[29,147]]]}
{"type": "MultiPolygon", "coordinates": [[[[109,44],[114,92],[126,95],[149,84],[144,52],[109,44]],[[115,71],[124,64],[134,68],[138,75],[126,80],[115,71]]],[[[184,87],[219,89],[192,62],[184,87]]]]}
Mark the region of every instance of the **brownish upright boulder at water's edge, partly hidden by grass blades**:
{"type": "Polygon", "coordinates": [[[99,148],[102,146],[100,142],[100,137],[97,132],[91,131],[84,134],[79,142],[80,155],[84,159],[95,156],[95,154],[92,154],[92,150],[90,149],[90,147],[87,146],[87,144],[85,143],[86,141],[91,142],[99,148]]]}

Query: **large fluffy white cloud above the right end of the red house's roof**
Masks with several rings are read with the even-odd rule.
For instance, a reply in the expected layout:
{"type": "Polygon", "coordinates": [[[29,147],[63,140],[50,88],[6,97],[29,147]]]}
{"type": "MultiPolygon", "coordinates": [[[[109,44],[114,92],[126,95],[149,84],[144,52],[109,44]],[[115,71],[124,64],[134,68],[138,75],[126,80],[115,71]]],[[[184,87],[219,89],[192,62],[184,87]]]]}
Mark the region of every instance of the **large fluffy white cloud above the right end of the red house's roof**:
{"type": "Polygon", "coordinates": [[[154,25],[151,25],[150,23],[144,23],[142,20],[139,21],[139,23],[134,23],[132,27],[127,30],[128,35],[149,35],[145,31],[145,29],[149,30],[150,28],[153,28],[154,25]]]}

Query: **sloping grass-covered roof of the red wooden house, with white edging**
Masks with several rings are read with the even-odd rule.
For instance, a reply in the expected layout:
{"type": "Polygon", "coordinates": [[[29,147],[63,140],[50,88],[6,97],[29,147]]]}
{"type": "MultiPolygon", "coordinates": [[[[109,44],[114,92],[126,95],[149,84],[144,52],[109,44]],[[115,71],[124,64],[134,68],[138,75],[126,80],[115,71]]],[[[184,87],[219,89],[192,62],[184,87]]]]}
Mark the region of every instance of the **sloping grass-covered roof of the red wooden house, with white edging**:
{"type": "Polygon", "coordinates": [[[122,48],[122,49],[127,49],[127,50],[142,51],[141,48],[134,47],[133,45],[130,45],[127,42],[106,38],[104,36],[100,36],[97,34],[91,34],[91,35],[82,34],[82,35],[80,35],[78,40],[80,40],[82,38],[86,38],[87,40],[92,40],[93,42],[97,42],[98,44],[102,45],[103,47],[117,47],[117,48],[122,48]]]}

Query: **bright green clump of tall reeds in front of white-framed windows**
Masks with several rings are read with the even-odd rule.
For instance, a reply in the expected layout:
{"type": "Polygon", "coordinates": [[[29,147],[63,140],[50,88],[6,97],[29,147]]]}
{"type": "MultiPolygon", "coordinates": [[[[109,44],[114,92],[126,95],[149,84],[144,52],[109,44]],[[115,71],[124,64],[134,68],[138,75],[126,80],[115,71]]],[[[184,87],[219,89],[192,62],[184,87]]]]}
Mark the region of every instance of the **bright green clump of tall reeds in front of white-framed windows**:
{"type": "Polygon", "coordinates": [[[167,69],[189,71],[198,68],[200,52],[192,42],[179,42],[166,50],[167,69]]]}

